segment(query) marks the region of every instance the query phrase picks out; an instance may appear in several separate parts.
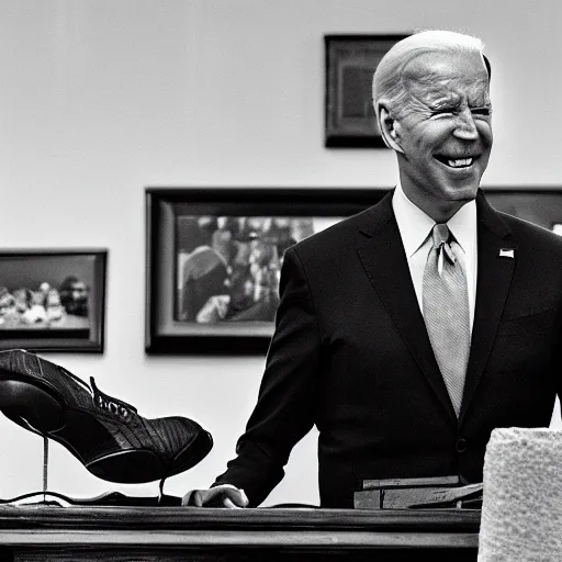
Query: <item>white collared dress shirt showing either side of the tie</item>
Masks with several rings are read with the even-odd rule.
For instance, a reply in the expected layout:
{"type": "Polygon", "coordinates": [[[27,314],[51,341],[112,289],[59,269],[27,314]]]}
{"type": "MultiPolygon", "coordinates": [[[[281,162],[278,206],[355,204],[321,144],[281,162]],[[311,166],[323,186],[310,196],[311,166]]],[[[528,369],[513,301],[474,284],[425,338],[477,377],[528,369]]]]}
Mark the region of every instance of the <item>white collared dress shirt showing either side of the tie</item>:
{"type": "MultiPolygon", "coordinates": [[[[396,223],[398,224],[402,244],[408,260],[409,274],[416,291],[419,310],[424,311],[422,300],[422,286],[427,256],[431,249],[431,229],[436,222],[416,206],[404,193],[401,183],[392,196],[392,209],[396,223]]],[[[474,303],[476,299],[476,268],[477,268],[477,244],[476,244],[476,202],[470,201],[461,206],[459,211],[447,222],[457,240],[461,256],[459,259],[464,263],[469,290],[470,328],[474,324],[474,303]]]]}

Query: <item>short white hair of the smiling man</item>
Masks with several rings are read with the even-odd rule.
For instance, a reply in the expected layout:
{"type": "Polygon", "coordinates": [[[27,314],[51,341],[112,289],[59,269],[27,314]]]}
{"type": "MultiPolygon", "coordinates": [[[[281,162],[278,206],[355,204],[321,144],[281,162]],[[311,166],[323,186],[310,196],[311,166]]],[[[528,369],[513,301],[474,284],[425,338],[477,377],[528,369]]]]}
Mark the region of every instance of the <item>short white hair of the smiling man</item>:
{"type": "MultiPolygon", "coordinates": [[[[485,60],[483,50],[482,40],[453,31],[422,31],[398,41],[382,57],[373,76],[373,105],[376,117],[379,119],[381,102],[395,117],[407,111],[403,70],[414,58],[426,53],[476,53],[485,60]]],[[[487,61],[485,65],[490,77],[487,61]]]]}

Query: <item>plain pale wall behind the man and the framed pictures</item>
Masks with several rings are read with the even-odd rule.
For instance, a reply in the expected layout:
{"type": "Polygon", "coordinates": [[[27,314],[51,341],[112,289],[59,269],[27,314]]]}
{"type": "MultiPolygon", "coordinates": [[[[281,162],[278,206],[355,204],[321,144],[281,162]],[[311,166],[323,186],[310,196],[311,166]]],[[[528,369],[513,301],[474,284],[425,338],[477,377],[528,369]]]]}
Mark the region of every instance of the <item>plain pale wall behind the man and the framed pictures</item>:
{"type": "MultiPolygon", "coordinates": [[[[146,186],[391,186],[387,150],[323,147],[325,33],[448,27],[493,64],[485,182],[561,183],[559,0],[0,0],[1,246],[108,247],[104,355],[49,359],[136,404],[207,427],[215,447],[166,491],[205,486],[234,453],[262,358],[144,353],[146,186]]],[[[41,488],[42,441],[0,418],[0,497],[41,488]]],[[[155,495],[89,474],[57,443],[49,487],[155,495]]],[[[268,503],[317,503],[315,435],[268,503]]]]}

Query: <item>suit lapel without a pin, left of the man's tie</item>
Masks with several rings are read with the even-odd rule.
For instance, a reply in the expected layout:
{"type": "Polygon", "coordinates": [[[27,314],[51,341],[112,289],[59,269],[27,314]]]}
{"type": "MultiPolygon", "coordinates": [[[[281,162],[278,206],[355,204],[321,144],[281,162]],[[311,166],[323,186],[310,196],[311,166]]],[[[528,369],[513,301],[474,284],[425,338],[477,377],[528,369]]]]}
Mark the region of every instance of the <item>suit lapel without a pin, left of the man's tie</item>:
{"type": "Polygon", "coordinates": [[[361,228],[361,234],[367,236],[368,240],[358,248],[359,259],[431,389],[448,415],[457,420],[419,311],[398,226],[392,211],[392,193],[366,214],[368,222],[361,228]]]}

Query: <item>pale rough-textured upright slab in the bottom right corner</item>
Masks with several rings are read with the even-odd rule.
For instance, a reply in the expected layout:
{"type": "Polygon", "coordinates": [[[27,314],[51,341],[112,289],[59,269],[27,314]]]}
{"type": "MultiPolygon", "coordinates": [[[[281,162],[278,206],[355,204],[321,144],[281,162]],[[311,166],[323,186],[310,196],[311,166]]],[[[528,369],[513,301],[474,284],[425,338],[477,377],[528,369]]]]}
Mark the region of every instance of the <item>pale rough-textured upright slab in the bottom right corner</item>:
{"type": "Polygon", "coordinates": [[[479,562],[562,561],[562,432],[492,431],[479,562]]]}

